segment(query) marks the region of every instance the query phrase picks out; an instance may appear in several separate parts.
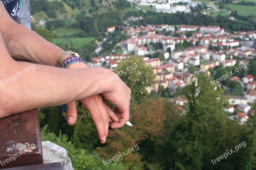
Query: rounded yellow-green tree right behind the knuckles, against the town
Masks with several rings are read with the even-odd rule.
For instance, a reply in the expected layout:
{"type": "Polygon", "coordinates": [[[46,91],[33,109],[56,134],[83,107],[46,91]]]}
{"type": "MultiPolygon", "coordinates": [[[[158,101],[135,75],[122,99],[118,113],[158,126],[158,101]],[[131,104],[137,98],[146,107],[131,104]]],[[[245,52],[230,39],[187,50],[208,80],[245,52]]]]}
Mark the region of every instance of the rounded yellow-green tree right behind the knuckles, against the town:
{"type": "Polygon", "coordinates": [[[141,101],[145,97],[149,97],[146,87],[155,83],[155,75],[152,67],[146,66],[142,57],[133,55],[128,60],[118,63],[115,72],[118,73],[121,70],[126,71],[120,78],[131,88],[133,100],[141,101]]]}

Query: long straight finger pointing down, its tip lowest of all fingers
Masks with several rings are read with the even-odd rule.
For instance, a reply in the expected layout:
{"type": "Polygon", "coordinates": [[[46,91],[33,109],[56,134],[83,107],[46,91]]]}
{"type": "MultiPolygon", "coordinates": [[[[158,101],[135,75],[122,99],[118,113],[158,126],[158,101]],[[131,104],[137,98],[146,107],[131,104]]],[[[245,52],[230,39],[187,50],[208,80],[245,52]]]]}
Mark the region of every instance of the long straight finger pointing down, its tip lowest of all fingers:
{"type": "Polygon", "coordinates": [[[98,131],[98,137],[100,139],[100,143],[104,144],[106,142],[106,136],[105,136],[106,131],[105,131],[103,117],[100,114],[100,110],[98,107],[93,107],[92,109],[89,110],[89,112],[96,126],[96,129],[98,131]]]}

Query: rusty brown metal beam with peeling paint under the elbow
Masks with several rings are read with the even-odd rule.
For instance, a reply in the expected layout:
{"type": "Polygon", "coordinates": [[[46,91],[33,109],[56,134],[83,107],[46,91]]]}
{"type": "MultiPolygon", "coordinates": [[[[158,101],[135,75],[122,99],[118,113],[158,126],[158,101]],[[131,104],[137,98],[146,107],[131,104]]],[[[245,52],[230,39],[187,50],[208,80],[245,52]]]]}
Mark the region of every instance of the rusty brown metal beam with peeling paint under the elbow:
{"type": "Polygon", "coordinates": [[[0,169],[43,164],[37,109],[1,118],[0,129],[0,169]]]}

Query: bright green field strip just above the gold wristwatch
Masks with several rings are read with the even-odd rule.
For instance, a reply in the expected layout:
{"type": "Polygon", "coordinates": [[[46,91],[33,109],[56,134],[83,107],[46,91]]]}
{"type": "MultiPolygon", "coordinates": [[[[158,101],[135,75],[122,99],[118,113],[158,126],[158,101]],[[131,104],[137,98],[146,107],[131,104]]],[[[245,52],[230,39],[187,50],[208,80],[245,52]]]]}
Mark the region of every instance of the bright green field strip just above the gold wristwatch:
{"type": "Polygon", "coordinates": [[[73,48],[81,48],[86,44],[89,44],[92,40],[94,40],[93,37],[72,37],[72,38],[54,38],[53,44],[68,44],[69,47],[71,47],[73,44],[73,48]]]}

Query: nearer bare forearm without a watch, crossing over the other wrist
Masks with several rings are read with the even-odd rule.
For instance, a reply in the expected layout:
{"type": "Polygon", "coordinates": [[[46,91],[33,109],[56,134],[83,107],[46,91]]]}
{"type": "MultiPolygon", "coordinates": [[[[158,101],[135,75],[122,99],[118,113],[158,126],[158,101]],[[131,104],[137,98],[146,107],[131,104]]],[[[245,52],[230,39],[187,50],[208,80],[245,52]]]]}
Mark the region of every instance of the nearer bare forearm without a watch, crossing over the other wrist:
{"type": "Polygon", "coordinates": [[[33,108],[58,106],[111,89],[111,85],[101,82],[104,76],[111,75],[106,69],[70,70],[36,64],[31,67],[32,63],[12,60],[1,34],[0,51],[3,61],[0,67],[0,117],[33,108]]]}

